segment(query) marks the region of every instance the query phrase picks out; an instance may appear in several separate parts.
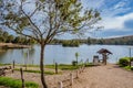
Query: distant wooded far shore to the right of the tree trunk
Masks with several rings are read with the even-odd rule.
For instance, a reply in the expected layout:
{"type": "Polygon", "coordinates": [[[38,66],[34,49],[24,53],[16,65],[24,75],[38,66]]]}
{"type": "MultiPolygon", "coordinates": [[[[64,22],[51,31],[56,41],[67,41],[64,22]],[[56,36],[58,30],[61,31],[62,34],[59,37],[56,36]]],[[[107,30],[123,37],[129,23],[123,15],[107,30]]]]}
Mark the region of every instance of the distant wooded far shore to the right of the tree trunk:
{"type": "Polygon", "coordinates": [[[100,45],[133,45],[133,35],[113,38],[91,38],[86,40],[53,40],[51,44],[62,44],[63,46],[79,46],[79,44],[100,45]]]}

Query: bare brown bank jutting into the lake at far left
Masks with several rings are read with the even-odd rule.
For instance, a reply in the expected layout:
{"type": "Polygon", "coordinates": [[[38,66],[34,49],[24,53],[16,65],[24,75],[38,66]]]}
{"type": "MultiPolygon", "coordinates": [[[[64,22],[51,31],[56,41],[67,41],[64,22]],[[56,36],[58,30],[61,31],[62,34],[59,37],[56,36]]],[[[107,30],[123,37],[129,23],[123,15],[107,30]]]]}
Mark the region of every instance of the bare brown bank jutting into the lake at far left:
{"type": "Polygon", "coordinates": [[[19,45],[12,43],[0,43],[0,48],[30,48],[30,45],[19,45]]]}

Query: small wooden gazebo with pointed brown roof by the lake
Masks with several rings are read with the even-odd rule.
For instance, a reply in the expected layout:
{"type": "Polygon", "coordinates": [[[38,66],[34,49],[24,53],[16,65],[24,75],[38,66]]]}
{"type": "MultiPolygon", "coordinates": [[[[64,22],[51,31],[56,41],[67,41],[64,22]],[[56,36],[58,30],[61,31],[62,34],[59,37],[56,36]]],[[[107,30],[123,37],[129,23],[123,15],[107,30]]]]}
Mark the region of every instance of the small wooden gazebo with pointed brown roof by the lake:
{"type": "Polygon", "coordinates": [[[104,64],[104,65],[106,65],[106,59],[108,59],[108,56],[110,55],[110,54],[112,54],[109,50],[106,50],[106,48],[101,48],[100,51],[98,51],[98,53],[99,54],[102,54],[102,63],[104,64]]]}

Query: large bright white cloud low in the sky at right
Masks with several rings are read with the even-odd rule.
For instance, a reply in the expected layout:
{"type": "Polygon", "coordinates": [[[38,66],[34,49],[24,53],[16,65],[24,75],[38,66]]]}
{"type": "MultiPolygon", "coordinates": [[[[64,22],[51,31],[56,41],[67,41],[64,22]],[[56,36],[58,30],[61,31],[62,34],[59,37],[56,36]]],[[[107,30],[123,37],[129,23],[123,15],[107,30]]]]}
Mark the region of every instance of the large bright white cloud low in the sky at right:
{"type": "Polygon", "coordinates": [[[124,22],[133,20],[133,12],[121,15],[121,16],[110,16],[110,18],[104,18],[101,25],[104,25],[105,30],[129,30],[124,26],[124,22]]]}

